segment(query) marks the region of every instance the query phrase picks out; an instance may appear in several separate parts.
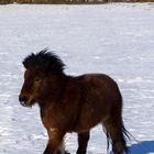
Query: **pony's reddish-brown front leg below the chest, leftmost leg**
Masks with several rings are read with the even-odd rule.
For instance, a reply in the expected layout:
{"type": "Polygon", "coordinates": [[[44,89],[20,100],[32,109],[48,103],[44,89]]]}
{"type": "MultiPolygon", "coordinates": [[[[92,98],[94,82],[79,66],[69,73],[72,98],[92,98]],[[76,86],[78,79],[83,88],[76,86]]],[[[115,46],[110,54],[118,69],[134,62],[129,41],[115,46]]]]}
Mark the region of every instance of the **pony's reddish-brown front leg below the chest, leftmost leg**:
{"type": "Polygon", "coordinates": [[[58,129],[50,129],[48,132],[48,143],[43,154],[65,154],[63,138],[65,132],[58,129]]]}

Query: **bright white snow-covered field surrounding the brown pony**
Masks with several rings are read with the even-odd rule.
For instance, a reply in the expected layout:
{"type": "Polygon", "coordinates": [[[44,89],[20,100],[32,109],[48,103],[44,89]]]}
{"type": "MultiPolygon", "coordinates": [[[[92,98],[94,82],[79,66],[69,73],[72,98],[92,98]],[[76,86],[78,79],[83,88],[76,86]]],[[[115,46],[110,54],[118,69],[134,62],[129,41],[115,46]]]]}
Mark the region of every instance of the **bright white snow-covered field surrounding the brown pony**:
{"type": "MultiPolygon", "coordinates": [[[[154,3],[0,6],[0,154],[42,154],[47,135],[38,107],[19,105],[22,59],[50,47],[66,73],[105,73],[120,86],[131,154],[154,154],[154,3]]],[[[88,154],[107,154],[101,127],[88,154]]],[[[75,154],[76,134],[66,136],[75,154]]]]}

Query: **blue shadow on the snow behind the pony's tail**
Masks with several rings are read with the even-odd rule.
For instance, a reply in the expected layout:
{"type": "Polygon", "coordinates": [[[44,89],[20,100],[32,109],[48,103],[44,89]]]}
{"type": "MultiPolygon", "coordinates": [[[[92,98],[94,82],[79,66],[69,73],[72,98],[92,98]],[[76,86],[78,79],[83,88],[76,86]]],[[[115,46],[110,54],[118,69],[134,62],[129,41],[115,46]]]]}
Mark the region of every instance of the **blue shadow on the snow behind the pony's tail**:
{"type": "MultiPolygon", "coordinates": [[[[129,146],[129,154],[152,154],[154,153],[154,141],[142,141],[129,146]]],[[[113,154],[110,152],[110,154],[113,154]]]]}

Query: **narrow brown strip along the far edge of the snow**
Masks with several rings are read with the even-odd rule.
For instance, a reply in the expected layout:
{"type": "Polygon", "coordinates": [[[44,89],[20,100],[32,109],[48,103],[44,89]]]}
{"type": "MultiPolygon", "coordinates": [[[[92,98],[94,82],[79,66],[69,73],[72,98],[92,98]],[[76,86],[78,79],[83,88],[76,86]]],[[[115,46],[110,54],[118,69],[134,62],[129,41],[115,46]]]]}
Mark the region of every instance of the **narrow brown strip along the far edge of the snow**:
{"type": "Polygon", "coordinates": [[[7,3],[68,3],[68,4],[84,4],[84,3],[107,3],[107,2],[154,2],[154,0],[0,0],[0,4],[7,3]]]}

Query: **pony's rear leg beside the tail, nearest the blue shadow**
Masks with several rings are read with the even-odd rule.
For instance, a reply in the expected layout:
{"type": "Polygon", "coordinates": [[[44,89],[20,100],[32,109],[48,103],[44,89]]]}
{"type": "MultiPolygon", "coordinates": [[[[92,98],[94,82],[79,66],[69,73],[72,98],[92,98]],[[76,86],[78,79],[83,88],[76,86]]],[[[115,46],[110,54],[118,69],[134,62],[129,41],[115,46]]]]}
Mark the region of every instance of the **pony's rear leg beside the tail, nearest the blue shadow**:
{"type": "Polygon", "coordinates": [[[113,120],[108,120],[103,122],[106,129],[108,142],[111,140],[112,151],[114,154],[128,153],[127,141],[123,134],[123,124],[116,122],[113,120]]]}

